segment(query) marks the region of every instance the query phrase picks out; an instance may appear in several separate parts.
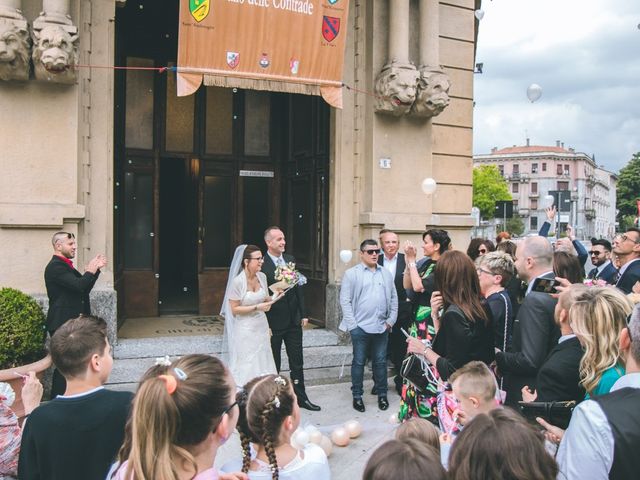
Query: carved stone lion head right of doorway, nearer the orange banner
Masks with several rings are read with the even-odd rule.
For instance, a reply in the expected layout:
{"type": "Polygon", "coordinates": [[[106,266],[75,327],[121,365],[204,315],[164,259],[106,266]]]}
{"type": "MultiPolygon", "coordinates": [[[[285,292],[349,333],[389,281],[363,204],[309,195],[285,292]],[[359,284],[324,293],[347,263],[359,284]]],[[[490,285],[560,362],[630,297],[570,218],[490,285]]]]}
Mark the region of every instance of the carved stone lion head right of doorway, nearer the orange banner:
{"type": "Polygon", "coordinates": [[[409,111],[416,99],[418,71],[412,65],[391,65],[376,78],[376,111],[400,116],[409,111]]]}

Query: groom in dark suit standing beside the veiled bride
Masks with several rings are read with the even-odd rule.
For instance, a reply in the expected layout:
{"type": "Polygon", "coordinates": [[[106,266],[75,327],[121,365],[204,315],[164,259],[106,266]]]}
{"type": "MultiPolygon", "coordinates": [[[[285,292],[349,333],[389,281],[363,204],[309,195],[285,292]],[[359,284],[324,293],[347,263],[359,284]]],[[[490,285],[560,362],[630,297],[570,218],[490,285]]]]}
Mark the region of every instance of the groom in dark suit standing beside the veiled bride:
{"type": "MultiPolygon", "coordinates": [[[[279,227],[269,227],[264,232],[264,242],[267,244],[267,255],[264,257],[262,272],[267,276],[267,283],[272,285],[276,265],[295,263],[295,258],[285,255],[284,233],[279,227]]],[[[299,285],[289,290],[283,298],[271,305],[267,312],[267,320],[271,328],[271,351],[276,362],[276,368],[280,372],[280,350],[282,342],[287,350],[289,358],[289,370],[293,389],[298,397],[298,405],[307,410],[320,410],[318,405],[311,403],[304,388],[304,373],[302,371],[302,326],[306,325],[308,318],[304,313],[304,298],[299,285]]]]}

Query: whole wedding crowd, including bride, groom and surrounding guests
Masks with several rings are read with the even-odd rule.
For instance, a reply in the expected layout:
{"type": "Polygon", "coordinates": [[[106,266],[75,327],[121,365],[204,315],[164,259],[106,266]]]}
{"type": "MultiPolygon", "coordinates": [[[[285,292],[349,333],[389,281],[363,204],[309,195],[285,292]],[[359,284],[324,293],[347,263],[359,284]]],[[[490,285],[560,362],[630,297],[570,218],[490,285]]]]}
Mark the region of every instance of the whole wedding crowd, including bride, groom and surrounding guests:
{"type": "MultiPolygon", "coordinates": [[[[61,233],[53,239],[55,255],[73,258],[75,239],[61,233]]],[[[444,230],[422,238],[420,259],[411,242],[401,253],[389,230],[362,241],[360,262],[342,280],[340,328],[353,345],[353,408],[366,409],[367,358],[378,408],[389,408],[388,359],[401,397],[395,438],[373,452],[363,478],[634,478],[640,230],[592,241],[587,275],[572,238],[514,242],[500,234],[497,246],[476,241],[467,253],[454,250],[444,230]]],[[[265,254],[243,245],[234,255],[223,359],[194,354],[159,362],[135,395],[104,387],[113,357],[103,320],[79,311],[51,324],[50,352],[64,390],[38,406],[42,386],[33,375],[25,379],[22,425],[0,391],[0,478],[330,478],[322,448],[291,442],[300,408],[319,407],[304,388],[299,285],[270,295],[276,279],[263,268],[269,257],[273,275],[293,259],[284,256],[279,228],[265,232],[265,243],[265,254]],[[279,306],[295,321],[272,321],[268,314],[279,306]],[[245,321],[255,334],[242,334],[245,321]],[[291,378],[279,374],[282,342],[291,378]],[[216,470],[218,450],[234,431],[241,449],[216,470]]],[[[63,270],[82,297],[106,259],[92,262],[74,278],[63,270]]],[[[58,269],[73,268],[65,264],[58,269]]],[[[54,306],[65,294],[57,292],[54,306]]]]}

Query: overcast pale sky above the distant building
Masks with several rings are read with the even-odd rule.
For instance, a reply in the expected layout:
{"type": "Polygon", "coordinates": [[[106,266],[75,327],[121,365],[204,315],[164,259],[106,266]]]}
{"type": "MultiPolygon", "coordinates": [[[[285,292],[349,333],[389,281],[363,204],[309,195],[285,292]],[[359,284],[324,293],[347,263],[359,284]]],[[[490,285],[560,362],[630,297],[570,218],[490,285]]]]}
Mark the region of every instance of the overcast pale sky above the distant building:
{"type": "Polygon", "coordinates": [[[640,0],[483,0],[474,153],[555,145],[617,172],[640,151],[640,0]],[[527,99],[539,84],[542,97],[527,99]]]}

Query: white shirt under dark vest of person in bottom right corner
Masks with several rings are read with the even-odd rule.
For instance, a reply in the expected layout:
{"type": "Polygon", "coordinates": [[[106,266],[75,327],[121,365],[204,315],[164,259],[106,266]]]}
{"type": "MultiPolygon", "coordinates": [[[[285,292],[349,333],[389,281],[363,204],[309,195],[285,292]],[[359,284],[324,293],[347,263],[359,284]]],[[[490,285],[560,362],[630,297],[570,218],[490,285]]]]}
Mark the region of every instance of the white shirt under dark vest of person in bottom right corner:
{"type": "MultiPolygon", "coordinates": [[[[628,373],[611,387],[640,388],[640,373],[628,373]]],[[[558,480],[607,480],[613,465],[613,433],[605,413],[594,400],[585,400],[571,415],[556,461],[558,480]]]]}

